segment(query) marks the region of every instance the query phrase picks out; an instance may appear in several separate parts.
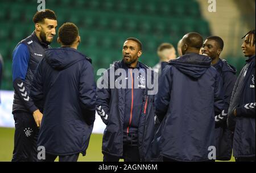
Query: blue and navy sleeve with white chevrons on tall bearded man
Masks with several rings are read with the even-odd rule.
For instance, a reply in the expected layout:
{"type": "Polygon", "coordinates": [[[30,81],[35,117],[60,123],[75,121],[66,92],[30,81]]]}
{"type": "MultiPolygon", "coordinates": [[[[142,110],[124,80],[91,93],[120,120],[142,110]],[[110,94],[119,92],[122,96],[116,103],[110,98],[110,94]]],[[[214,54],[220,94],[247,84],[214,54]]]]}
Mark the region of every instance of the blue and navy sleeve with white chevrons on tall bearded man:
{"type": "Polygon", "coordinates": [[[25,84],[29,58],[30,55],[27,46],[19,44],[13,53],[13,86],[15,93],[19,96],[20,100],[22,100],[24,106],[33,113],[38,108],[28,95],[30,88],[25,84]]]}

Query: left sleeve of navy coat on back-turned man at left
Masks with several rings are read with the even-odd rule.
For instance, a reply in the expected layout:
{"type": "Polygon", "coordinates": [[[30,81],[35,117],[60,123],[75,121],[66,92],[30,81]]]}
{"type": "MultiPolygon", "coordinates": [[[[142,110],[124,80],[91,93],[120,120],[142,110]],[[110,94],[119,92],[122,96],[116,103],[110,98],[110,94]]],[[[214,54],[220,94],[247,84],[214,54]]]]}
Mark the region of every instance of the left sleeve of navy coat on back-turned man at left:
{"type": "Polygon", "coordinates": [[[30,90],[30,95],[32,100],[34,100],[34,103],[36,107],[40,109],[41,112],[43,112],[43,107],[44,107],[44,94],[43,94],[43,78],[42,78],[42,63],[44,60],[42,60],[37,69],[36,73],[34,75],[32,85],[31,85],[31,90],[30,90]]]}

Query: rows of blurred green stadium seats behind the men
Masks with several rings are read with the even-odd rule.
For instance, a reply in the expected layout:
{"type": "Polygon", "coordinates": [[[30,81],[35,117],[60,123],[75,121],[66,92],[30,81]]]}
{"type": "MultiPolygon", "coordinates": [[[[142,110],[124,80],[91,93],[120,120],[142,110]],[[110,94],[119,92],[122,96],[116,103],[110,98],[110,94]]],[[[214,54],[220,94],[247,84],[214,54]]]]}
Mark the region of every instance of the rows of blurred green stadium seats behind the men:
{"type": "MultiPolygon", "coordinates": [[[[34,31],[32,18],[38,3],[1,0],[0,6],[0,39],[7,40],[0,43],[0,53],[11,62],[16,44],[34,31]]],[[[55,11],[58,27],[65,22],[79,27],[78,49],[92,58],[94,72],[122,59],[122,46],[127,37],[142,41],[140,61],[154,66],[159,61],[156,49],[160,43],[171,42],[176,47],[187,32],[210,33],[209,24],[201,18],[199,3],[195,0],[51,0],[46,1],[46,8],[55,11]]],[[[60,46],[56,37],[51,46],[60,46]]],[[[13,89],[10,69],[9,63],[2,88],[13,89]]]]}

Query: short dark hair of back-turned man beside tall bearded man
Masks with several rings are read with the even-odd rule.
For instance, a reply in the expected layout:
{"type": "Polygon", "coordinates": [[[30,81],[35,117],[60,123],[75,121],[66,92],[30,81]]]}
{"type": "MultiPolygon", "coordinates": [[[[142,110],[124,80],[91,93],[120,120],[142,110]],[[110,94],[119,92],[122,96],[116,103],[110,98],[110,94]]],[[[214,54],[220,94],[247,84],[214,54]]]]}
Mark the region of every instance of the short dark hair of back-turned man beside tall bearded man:
{"type": "Polygon", "coordinates": [[[79,29],[75,24],[67,22],[59,28],[58,35],[61,43],[72,45],[77,36],[79,36],[79,29]]]}

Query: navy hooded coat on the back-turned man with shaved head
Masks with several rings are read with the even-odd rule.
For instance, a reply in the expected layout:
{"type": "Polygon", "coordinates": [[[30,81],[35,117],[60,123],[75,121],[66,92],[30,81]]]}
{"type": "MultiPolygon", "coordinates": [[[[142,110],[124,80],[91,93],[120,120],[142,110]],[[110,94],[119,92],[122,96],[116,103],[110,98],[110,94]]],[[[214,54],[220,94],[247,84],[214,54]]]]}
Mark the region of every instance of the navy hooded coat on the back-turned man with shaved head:
{"type": "Polygon", "coordinates": [[[208,147],[215,145],[214,115],[224,106],[222,82],[210,63],[209,57],[190,53],[164,67],[155,100],[156,115],[162,120],[163,157],[208,160],[208,147]]]}

